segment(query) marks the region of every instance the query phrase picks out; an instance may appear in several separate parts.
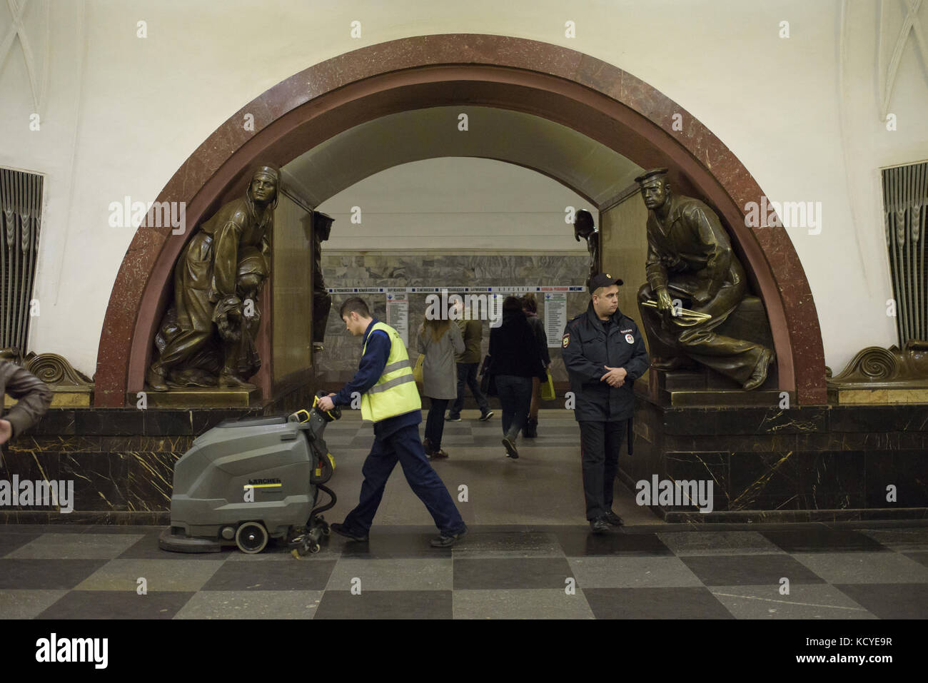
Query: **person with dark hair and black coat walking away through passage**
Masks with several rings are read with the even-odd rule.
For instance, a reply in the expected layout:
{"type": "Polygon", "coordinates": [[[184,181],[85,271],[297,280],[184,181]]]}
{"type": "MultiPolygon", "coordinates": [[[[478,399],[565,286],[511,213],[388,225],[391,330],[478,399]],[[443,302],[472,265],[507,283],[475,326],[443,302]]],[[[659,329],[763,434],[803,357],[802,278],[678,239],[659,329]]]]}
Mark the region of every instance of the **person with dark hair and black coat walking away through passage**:
{"type": "Polygon", "coordinates": [[[522,313],[522,300],[503,301],[503,319],[490,329],[490,365],[487,372],[496,380],[496,393],[503,412],[503,445],[506,455],[519,457],[516,437],[528,419],[532,403],[532,378],[547,379],[535,332],[522,313]]]}

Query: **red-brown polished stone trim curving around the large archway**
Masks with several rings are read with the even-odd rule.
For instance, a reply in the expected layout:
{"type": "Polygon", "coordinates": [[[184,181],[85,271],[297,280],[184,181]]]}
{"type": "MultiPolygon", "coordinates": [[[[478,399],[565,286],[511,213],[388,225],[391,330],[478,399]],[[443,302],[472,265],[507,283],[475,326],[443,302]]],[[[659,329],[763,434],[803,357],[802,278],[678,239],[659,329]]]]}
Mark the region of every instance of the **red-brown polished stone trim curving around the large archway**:
{"type": "MultiPolygon", "coordinates": [[[[217,97],[219,94],[217,94],[217,97]]],[[[779,386],[802,404],[826,403],[818,315],[806,274],[781,227],[744,226],[741,207],[763,192],[701,122],[650,85],[574,50],[483,34],[427,35],[371,45],[316,64],[270,88],[221,125],[161,190],[186,201],[195,226],[244,191],[256,163],[284,165],[354,125],[424,107],[482,105],[535,114],[615,149],[712,203],[731,229],[767,306],[779,386]],[[683,116],[683,131],[672,129],[683,116]],[[245,115],[254,117],[246,131],[245,115]]],[[[472,125],[471,125],[472,127],[472,125]]],[[[457,128],[452,128],[456,134],[457,128]]],[[[473,135],[471,132],[470,135],[473,135]]],[[[184,236],[143,224],[122,260],[97,354],[96,405],[123,406],[141,389],[184,236]]]]}

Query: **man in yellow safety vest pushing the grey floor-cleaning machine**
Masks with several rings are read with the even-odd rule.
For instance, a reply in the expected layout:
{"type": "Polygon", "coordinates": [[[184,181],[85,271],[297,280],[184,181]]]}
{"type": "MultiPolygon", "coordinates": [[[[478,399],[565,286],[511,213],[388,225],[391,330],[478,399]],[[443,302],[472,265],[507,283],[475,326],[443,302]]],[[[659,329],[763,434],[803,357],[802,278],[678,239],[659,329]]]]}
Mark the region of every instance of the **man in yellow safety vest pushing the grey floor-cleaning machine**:
{"type": "Polygon", "coordinates": [[[344,522],[331,525],[332,531],[354,541],[367,541],[383,488],[398,460],[406,482],[432,513],[440,532],[432,539],[432,547],[449,548],[467,533],[467,526],[419,440],[422,404],[406,344],[399,332],[370,315],[360,297],[342,303],[339,315],[349,332],[364,337],[361,362],[342,391],[319,399],[319,406],[323,410],[346,406],[352,393],[360,393],[361,417],[374,422],[374,445],[364,461],[361,499],[344,522]]]}

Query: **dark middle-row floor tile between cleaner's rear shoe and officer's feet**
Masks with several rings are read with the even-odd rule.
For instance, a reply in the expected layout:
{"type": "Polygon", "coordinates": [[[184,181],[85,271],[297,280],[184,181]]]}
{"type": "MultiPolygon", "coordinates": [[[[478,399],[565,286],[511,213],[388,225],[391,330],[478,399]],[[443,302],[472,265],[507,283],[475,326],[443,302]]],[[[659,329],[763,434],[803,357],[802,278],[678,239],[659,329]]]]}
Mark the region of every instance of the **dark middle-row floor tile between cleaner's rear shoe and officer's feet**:
{"type": "Polygon", "coordinates": [[[455,590],[563,588],[574,573],[565,558],[455,559],[455,590]]]}

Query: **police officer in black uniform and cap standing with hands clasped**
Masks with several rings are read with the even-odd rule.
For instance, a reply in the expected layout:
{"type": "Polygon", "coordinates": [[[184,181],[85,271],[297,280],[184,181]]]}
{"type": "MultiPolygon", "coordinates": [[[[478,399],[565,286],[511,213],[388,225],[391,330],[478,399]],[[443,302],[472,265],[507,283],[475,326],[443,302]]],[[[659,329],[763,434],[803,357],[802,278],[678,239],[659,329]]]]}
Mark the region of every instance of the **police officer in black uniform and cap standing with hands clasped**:
{"type": "Polygon", "coordinates": [[[608,273],[591,277],[586,313],[567,323],[561,338],[576,401],[574,418],[580,424],[586,519],[594,534],[622,525],[612,512],[612,486],[634,412],[632,383],[650,364],[638,326],[619,310],[621,284],[608,273]]]}

